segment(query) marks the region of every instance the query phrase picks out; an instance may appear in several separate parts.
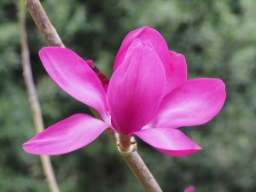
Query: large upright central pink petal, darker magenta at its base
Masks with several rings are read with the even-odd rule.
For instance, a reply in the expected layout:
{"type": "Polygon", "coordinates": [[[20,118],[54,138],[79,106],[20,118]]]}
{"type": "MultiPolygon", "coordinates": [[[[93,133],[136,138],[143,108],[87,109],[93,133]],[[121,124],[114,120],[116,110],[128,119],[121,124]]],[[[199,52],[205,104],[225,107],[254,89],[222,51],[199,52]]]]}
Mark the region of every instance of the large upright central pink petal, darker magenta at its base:
{"type": "Polygon", "coordinates": [[[136,41],[108,85],[108,108],[114,128],[129,134],[146,125],[166,92],[166,74],[154,49],[136,41]]]}

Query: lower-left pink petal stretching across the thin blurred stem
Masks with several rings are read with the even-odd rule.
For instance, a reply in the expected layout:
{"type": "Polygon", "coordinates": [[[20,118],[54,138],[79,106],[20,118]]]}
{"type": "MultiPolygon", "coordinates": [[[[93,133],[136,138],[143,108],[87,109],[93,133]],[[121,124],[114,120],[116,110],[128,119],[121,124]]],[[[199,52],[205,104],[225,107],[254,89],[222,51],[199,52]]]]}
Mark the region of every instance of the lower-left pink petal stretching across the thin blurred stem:
{"type": "Polygon", "coordinates": [[[109,125],[87,114],[74,114],[55,125],[49,126],[23,144],[29,154],[67,154],[91,143],[109,125]]]}

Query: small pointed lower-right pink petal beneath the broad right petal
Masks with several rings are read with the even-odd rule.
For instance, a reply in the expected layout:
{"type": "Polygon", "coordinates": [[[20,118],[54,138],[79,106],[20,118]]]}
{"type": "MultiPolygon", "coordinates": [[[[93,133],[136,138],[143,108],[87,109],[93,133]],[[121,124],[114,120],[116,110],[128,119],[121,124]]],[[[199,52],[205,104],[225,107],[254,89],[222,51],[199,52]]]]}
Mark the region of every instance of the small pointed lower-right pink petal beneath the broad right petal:
{"type": "Polygon", "coordinates": [[[177,129],[148,128],[133,134],[160,152],[172,156],[194,154],[201,149],[189,137],[186,137],[182,131],[177,129]]]}

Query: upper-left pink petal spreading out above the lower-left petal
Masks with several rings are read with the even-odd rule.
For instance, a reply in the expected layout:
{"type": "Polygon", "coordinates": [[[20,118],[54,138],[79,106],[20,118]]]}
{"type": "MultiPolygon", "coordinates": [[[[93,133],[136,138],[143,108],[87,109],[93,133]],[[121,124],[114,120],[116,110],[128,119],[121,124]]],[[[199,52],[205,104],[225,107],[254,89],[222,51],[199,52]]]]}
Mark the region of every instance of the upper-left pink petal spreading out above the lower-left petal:
{"type": "Polygon", "coordinates": [[[106,94],[102,83],[79,55],[70,49],[57,47],[43,48],[39,55],[55,84],[79,102],[96,108],[103,119],[107,116],[106,94]]]}

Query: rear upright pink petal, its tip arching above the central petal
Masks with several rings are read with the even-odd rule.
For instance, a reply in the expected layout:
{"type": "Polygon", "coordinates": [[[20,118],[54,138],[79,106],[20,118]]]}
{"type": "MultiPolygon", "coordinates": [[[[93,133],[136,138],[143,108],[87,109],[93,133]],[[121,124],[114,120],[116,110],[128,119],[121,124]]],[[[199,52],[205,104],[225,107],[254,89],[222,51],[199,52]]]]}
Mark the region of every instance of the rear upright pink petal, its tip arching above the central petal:
{"type": "Polygon", "coordinates": [[[154,51],[156,52],[157,55],[159,55],[160,61],[162,61],[165,68],[169,67],[169,50],[165,39],[156,30],[148,26],[143,26],[142,28],[136,29],[130,32],[128,35],[126,35],[125,39],[123,40],[123,43],[121,44],[119,52],[116,55],[113,64],[113,70],[116,70],[119,67],[119,65],[125,60],[125,55],[127,54],[127,51],[132,41],[137,38],[143,41],[149,40],[154,48],[154,51]]]}

